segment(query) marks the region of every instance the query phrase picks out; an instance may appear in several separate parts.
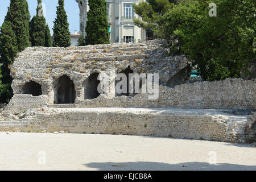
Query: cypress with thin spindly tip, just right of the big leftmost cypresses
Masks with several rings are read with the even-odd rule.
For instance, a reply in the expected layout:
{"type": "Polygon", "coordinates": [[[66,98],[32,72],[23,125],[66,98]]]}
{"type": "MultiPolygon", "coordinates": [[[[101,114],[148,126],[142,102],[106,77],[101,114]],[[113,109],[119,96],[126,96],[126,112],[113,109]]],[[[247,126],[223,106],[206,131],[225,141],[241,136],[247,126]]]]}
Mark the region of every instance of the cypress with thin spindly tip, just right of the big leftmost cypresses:
{"type": "Polygon", "coordinates": [[[42,0],[38,0],[36,15],[30,22],[30,36],[32,46],[44,46],[46,44],[46,19],[42,14],[42,0]]]}

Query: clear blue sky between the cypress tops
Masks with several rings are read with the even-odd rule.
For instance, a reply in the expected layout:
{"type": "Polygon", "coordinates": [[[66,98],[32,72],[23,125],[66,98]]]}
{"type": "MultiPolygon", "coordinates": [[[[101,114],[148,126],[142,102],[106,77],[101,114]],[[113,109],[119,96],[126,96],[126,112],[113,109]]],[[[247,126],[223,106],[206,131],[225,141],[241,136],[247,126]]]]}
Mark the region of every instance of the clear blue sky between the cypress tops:
{"type": "MultiPolygon", "coordinates": [[[[31,18],[36,14],[36,0],[27,0],[28,7],[30,9],[31,18]]],[[[50,28],[52,34],[53,21],[56,18],[56,6],[57,0],[42,0],[43,3],[46,4],[46,22],[50,28]]],[[[5,19],[5,15],[7,13],[7,7],[10,5],[10,0],[1,0],[0,6],[0,26],[5,19]]],[[[65,10],[68,15],[68,23],[69,23],[69,31],[71,34],[77,30],[79,32],[79,6],[75,0],[65,0],[65,10]]]]}

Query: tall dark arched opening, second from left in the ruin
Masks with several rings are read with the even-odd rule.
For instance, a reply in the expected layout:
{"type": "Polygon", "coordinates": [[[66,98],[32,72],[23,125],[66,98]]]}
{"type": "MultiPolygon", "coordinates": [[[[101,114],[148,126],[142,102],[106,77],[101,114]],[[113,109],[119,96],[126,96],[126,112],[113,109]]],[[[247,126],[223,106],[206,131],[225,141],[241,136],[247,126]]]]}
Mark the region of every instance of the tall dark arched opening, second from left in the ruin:
{"type": "Polygon", "coordinates": [[[76,90],[73,81],[67,76],[57,79],[55,104],[74,104],[76,100],[76,90]]]}

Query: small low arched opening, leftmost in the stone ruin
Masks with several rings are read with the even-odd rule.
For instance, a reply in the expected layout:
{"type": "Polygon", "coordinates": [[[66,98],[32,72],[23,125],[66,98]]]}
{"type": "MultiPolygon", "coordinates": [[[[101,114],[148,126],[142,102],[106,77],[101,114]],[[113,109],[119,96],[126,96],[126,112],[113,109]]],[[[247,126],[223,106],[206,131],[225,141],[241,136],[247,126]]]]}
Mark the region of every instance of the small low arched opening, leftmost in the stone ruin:
{"type": "Polygon", "coordinates": [[[42,86],[35,81],[27,82],[22,88],[22,94],[40,96],[42,95],[42,86]]]}

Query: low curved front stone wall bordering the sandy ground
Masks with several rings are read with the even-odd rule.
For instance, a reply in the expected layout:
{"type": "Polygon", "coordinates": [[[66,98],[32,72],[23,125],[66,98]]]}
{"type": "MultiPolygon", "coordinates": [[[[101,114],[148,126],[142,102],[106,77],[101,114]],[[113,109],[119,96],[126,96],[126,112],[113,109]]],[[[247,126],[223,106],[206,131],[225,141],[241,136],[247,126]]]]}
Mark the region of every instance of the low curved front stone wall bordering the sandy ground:
{"type": "MultiPolygon", "coordinates": [[[[65,131],[246,142],[248,115],[216,110],[79,108],[50,109],[35,117],[0,122],[0,131],[65,131]]],[[[254,131],[255,132],[255,131],[254,131]]]]}

